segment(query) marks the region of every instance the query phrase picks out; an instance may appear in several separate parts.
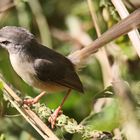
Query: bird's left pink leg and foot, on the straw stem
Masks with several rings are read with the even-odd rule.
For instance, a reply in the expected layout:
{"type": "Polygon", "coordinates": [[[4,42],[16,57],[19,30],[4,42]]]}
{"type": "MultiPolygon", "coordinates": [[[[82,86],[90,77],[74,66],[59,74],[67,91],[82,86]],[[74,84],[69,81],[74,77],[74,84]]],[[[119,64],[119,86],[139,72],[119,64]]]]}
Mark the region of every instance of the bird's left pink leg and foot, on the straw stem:
{"type": "Polygon", "coordinates": [[[33,104],[37,103],[37,102],[40,100],[40,98],[41,98],[42,96],[45,95],[45,93],[46,93],[46,91],[42,91],[42,92],[41,92],[38,96],[36,96],[35,98],[24,99],[23,104],[26,104],[26,105],[33,105],[33,104]]]}

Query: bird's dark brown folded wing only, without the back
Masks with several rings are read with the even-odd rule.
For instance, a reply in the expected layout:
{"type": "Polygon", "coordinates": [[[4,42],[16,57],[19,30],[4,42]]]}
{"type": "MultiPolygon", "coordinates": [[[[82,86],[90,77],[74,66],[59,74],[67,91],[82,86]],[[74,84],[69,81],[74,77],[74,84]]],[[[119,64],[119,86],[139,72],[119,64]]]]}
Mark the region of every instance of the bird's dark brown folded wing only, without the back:
{"type": "Polygon", "coordinates": [[[79,92],[83,92],[82,83],[76,74],[73,65],[70,62],[67,62],[67,64],[62,60],[56,60],[36,59],[34,62],[34,68],[37,77],[43,82],[54,82],[75,89],[79,92]]]}

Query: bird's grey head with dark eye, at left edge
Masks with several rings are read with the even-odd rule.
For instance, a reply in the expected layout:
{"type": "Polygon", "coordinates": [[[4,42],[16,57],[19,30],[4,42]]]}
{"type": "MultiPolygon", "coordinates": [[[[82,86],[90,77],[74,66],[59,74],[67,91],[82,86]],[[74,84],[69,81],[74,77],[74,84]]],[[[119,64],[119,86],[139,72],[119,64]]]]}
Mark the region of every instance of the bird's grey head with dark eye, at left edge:
{"type": "Polygon", "coordinates": [[[0,29],[0,46],[8,51],[12,48],[20,49],[32,40],[33,34],[22,27],[6,26],[0,29]]]}

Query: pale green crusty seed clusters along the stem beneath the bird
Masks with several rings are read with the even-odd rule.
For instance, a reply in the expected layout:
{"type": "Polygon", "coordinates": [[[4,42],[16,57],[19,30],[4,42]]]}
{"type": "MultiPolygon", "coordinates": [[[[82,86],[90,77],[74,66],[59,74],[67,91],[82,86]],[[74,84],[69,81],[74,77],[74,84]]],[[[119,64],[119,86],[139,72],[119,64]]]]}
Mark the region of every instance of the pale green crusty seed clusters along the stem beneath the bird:
{"type": "MultiPolygon", "coordinates": [[[[50,117],[51,113],[54,112],[54,110],[50,110],[45,104],[35,104],[33,106],[33,110],[40,116],[44,122],[48,123],[48,118],[50,117]]],[[[90,115],[91,117],[91,115],[90,115]]],[[[88,118],[89,120],[93,120],[93,118],[88,118]]],[[[84,122],[87,119],[84,120],[84,122]]],[[[91,123],[90,123],[91,124],[91,123]]],[[[94,125],[93,125],[94,126],[94,125]]],[[[60,128],[61,131],[75,134],[80,133],[82,135],[83,139],[90,139],[90,138],[96,138],[96,139],[108,139],[111,138],[110,133],[104,134],[104,132],[96,131],[91,126],[83,125],[83,123],[78,124],[76,120],[73,118],[69,118],[68,116],[61,114],[57,118],[56,127],[60,128]]]]}

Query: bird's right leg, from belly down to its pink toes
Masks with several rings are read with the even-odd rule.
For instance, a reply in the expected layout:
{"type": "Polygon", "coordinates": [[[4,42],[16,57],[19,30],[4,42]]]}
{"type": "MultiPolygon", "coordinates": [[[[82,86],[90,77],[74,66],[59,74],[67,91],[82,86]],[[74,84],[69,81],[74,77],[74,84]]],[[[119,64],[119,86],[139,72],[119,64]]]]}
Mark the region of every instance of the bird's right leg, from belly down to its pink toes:
{"type": "Polygon", "coordinates": [[[55,123],[56,123],[56,119],[57,117],[62,113],[62,106],[65,103],[66,99],[68,98],[69,94],[70,94],[71,89],[68,90],[66,96],[63,98],[60,106],[58,106],[58,108],[53,112],[53,114],[49,117],[48,121],[51,123],[51,128],[54,128],[55,123]]]}

